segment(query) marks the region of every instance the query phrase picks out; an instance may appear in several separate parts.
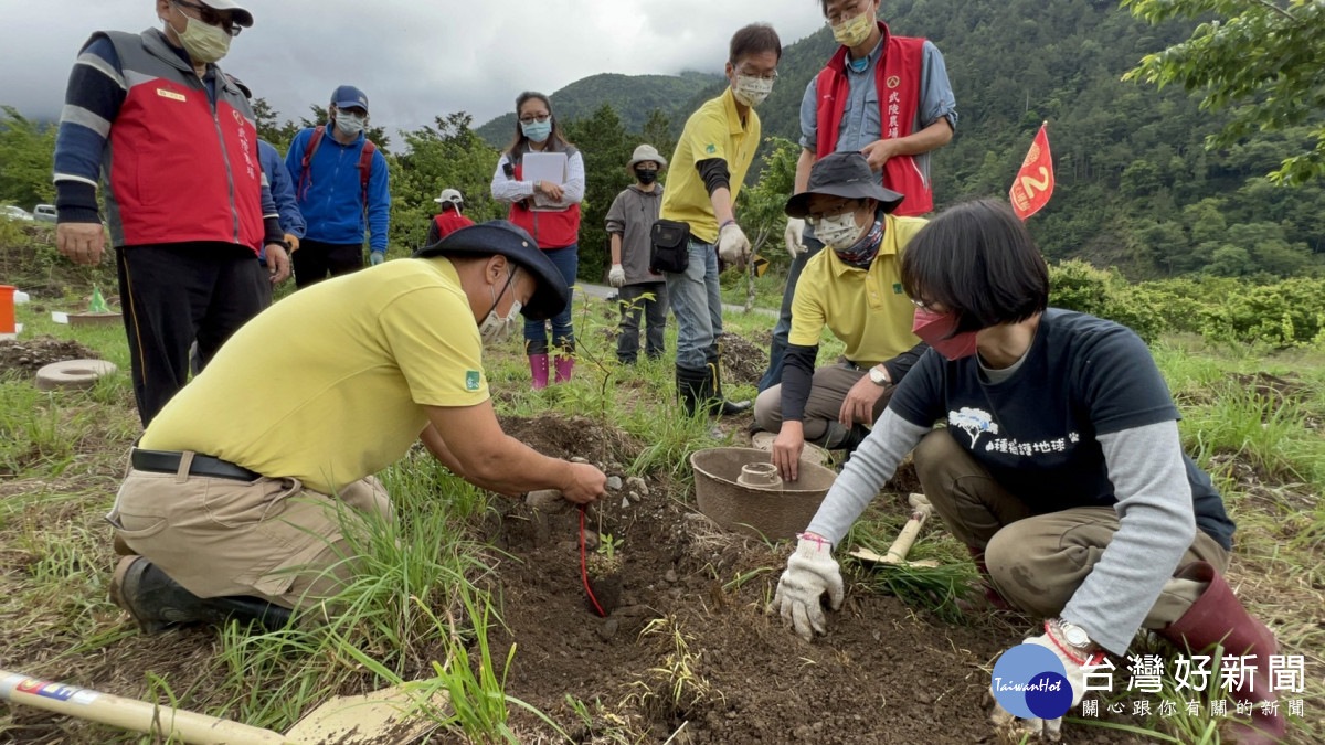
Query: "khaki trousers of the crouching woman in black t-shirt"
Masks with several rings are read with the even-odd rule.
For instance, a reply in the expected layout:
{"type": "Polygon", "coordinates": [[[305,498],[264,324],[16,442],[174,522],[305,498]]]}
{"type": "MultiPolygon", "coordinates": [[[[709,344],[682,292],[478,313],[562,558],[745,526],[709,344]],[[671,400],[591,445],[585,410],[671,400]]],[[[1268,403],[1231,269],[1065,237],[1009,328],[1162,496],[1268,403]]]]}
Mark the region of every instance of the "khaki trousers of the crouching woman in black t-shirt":
{"type": "MultiPolygon", "coordinates": [[[[953,536],[984,553],[988,579],[999,594],[1043,618],[1063,611],[1118,532],[1112,506],[1032,514],[945,428],[925,435],[916,447],[916,472],[953,536]]],[[[1178,566],[1194,561],[1207,561],[1223,573],[1228,551],[1198,529],[1178,566]]],[[[1204,590],[1204,582],[1170,579],[1143,626],[1163,628],[1178,620],[1204,590]]]]}

